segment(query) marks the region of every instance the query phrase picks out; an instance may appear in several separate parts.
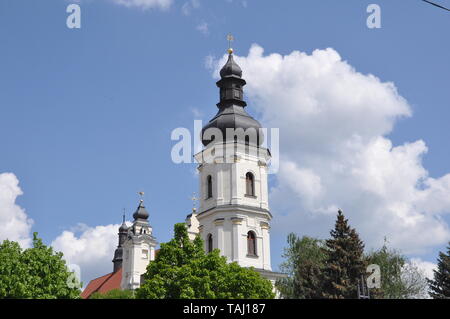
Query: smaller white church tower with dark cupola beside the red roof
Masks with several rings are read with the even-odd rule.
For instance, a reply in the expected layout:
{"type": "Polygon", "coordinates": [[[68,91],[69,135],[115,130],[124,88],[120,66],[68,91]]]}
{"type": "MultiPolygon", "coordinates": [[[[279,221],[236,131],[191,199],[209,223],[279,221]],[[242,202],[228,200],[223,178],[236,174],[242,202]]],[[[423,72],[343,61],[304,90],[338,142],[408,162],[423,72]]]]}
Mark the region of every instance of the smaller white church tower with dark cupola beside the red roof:
{"type": "MultiPolygon", "coordinates": [[[[144,202],[141,200],[133,214],[133,224],[127,228],[126,239],[123,242],[122,282],[120,285],[122,289],[139,288],[141,276],[147,271],[148,263],[155,259],[157,242],[152,235],[148,216],[144,202]]],[[[119,238],[120,235],[119,231],[119,238]]]]}

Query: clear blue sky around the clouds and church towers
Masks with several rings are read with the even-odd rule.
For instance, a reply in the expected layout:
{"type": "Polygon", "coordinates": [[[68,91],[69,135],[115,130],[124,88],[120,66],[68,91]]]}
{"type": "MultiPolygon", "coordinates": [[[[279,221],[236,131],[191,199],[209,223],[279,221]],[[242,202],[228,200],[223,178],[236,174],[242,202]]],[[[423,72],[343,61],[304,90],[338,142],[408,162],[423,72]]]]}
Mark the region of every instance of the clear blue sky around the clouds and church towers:
{"type": "MultiPolygon", "coordinates": [[[[237,55],[254,43],[281,55],[331,47],[358,72],[395,83],[413,115],[386,136],[394,145],[425,141],[429,176],[450,172],[448,12],[419,0],[174,1],[166,10],[86,0],[81,29],[68,29],[70,3],[0,2],[0,173],[17,176],[24,195],[16,203],[47,243],[78,223],[119,223],[123,208],[130,219],[141,190],[154,235],[170,239],[198,184],[194,164],[171,161],[170,133],[191,129],[196,112],[215,114],[218,90],[205,61],[223,56],[229,32],[237,55]],[[373,2],[381,29],[366,27],[373,2]]],[[[325,233],[334,217],[327,221],[325,233]]],[[[286,235],[272,232],[275,268],[286,235]]],[[[420,258],[434,261],[444,246],[420,258]]]]}

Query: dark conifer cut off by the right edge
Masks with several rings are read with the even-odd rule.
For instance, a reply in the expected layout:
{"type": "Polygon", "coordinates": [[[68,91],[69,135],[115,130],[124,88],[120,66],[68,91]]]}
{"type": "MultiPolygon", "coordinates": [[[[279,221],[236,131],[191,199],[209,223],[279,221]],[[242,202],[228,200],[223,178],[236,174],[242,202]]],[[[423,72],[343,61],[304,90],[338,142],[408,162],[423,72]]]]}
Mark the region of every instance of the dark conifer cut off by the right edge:
{"type": "Polygon", "coordinates": [[[431,297],[434,299],[450,298],[450,242],[447,254],[439,252],[437,270],[434,270],[433,273],[433,280],[428,280],[431,297]]]}

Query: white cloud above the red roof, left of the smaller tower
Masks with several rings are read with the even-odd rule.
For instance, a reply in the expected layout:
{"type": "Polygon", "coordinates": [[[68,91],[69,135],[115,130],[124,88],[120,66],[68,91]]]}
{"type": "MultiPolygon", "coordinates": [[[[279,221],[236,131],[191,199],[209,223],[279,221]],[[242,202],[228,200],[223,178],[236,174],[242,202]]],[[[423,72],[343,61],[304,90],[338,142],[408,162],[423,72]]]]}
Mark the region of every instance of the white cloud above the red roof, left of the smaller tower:
{"type": "Polygon", "coordinates": [[[90,280],[112,272],[114,250],[118,244],[120,225],[89,227],[79,224],[61,233],[51,243],[64,254],[68,264],[81,269],[81,281],[86,286],[90,280]]]}

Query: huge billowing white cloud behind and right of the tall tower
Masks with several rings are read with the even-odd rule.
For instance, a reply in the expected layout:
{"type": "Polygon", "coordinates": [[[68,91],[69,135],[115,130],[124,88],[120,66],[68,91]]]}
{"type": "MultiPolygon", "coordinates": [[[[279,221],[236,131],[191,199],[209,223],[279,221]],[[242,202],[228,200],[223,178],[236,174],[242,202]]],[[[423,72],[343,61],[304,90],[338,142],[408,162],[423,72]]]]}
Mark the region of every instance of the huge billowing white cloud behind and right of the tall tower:
{"type": "MultiPolygon", "coordinates": [[[[214,75],[225,63],[207,59],[214,75]]],[[[357,72],[328,48],[236,56],[249,104],[266,127],[280,128],[280,170],[271,189],[273,227],[328,236],[342,208],[367,247],[387,236],[421,254],[450,239],[450,174],[432,178],[424,141],[392,145],[387,135],[411,107],[395,85],[357,72]]]]}

